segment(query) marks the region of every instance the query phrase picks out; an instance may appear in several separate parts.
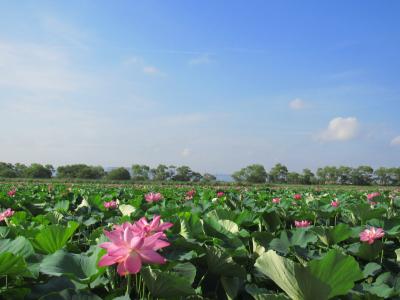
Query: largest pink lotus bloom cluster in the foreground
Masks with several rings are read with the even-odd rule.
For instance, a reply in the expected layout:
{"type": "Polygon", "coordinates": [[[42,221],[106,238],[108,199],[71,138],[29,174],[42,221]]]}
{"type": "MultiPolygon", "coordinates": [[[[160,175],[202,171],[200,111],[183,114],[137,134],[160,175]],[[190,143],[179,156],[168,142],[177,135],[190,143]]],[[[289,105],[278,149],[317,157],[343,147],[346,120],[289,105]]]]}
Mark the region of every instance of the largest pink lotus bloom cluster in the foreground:
{"type": "Polygon", "coordinates": [[[146,218],[131,224],[126,222],[115,225],[114,230],[104,231],[110,242],[100,245],[107,250],[99,261],[99,266],[118,264],[117,272],[121,276],[136,274],[147,264],[164,264],[166,259],[157,250],[169,246],[165,230],[172,223],[160,223],[160,216],[155,216],[151,223],[146,218]]]}

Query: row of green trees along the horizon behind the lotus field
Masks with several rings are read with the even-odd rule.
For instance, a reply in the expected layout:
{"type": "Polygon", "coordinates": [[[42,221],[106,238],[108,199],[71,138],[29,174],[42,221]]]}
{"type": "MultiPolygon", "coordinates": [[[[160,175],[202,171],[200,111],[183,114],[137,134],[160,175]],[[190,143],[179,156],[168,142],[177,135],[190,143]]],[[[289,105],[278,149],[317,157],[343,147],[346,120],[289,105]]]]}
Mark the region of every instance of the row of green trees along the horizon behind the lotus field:
{"type": "MultiPolygon", "coordinates": [[[[217,178],[209,173],[200,174],[188,166],[167,166],[155,168],[134,164],[128,170],[124,167],[106,172],[101,166],[73,164],[52,165],[0,162],[0,178],[61,178],[61,179],[107,179],[146,181],[215,182],[217,178]]],[[[283,164],[276,164],[266,171],[263,165],[253,164],[234,172],[232,178],[238,183],[287,183],[287,184],[341,184],[341,185],[400,185],[400,168],[370,166],[326,166],[315,173],[304,169],[302,173],[290,172],[283,164]]]]}

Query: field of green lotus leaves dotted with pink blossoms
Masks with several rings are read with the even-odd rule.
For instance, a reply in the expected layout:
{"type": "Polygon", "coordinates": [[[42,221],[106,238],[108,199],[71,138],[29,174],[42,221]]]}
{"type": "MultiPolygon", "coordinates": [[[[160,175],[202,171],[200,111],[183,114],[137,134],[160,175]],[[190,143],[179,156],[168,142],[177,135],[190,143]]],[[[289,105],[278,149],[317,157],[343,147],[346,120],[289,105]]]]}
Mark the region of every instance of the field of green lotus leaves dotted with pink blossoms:
{"type": "Polygon", "coordinates": [[[400,299],[400,190],[0,185],[1,299],[400,299]]]}

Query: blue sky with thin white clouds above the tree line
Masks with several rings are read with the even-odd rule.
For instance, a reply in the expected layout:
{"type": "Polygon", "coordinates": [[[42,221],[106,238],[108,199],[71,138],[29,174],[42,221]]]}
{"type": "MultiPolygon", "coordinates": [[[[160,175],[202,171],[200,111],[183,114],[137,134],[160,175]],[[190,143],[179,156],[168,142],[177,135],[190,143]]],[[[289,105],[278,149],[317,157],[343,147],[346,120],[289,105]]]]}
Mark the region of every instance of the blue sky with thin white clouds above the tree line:
{"type": "Polygon", "coordinates": [[[0,161],[400,166],[399,1],[1,1],[0,161]]]}

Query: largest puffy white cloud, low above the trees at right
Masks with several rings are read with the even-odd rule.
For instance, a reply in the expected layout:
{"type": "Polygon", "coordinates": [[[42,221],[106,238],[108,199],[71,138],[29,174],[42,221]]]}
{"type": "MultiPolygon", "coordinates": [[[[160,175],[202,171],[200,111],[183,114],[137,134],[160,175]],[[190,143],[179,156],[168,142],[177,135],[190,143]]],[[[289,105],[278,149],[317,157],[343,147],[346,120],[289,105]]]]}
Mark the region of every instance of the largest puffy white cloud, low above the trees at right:
{"type": "Polygon", "coordinates": [[[348,141],[355,138],[359,131],[357,118],[337,117],[329,122],[328,128],[318,135],[321,141],[348,141]]]}

